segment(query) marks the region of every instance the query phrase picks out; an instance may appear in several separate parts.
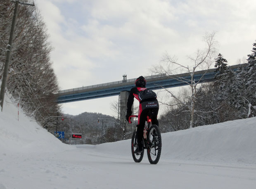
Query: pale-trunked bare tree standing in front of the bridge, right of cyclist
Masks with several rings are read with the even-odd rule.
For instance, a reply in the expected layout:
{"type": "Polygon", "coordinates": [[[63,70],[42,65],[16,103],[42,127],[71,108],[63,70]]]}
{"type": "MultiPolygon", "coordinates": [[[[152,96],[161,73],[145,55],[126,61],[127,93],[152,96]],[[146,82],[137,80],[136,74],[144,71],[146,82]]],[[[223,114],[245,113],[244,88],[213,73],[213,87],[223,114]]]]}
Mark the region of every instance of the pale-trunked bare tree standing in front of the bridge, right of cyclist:
{"type": "Polygon", "coordinates": [[[169,106],[177,106],[178,104],[183,104],[185,110],[190,113],[190,128],[194,126],[194,113],[199,113],[200,111],[196,110],[195,104],[197,101],[197,92],[201,89],[202,85],[200,84],[204,78],[204,75],[208,72],[209,68],[214,62],[214,56],[216,55],[216,41],[214,40],[215,33],[208,34],[206,33],[204,40],[206,42],[206,48],[202,50],[197,50],[194,57],[190,56],[189,59],[192,62],[192,66],[185,66],[177,61],[177,58],[171,57],[168,53],[164,55],[163,60],[159,65],[155,66],[152,70],[155,74],[161,74],[168,78],[173,78],[177,81],[181,81],[190,86],[190,104],[185,103],[175,96],[171,90],[164,88],[171,97],[175,98],[177,104],[167,104],[169,106]],[[206,70],[202,73],[202,76],[195,81],[194,74],[199,69],[206,70]],[[189,73],[190,78],[185,78],[182,73],[189,73]]]}

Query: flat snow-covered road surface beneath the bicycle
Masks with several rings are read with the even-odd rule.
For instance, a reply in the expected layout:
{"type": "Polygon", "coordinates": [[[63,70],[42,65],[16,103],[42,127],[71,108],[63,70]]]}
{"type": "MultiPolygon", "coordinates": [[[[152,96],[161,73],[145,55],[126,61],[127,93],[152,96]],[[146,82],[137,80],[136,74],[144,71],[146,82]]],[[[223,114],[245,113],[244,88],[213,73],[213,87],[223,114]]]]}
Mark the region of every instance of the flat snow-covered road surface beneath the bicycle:
{"type": "MultiPolygon", "coordinates": [[[[111,146],[111,145],[107,145],[111,146]]],[[[256,167],[160,159],[141,163],[131,155],[81,145],[57,153],[4,154],[0,189],[254,189],[256,167]]],[[[109,148],[111,150],[111,148],[109,148]]],[[[130,149],[128,149],[130,150],[130,149]]]]}

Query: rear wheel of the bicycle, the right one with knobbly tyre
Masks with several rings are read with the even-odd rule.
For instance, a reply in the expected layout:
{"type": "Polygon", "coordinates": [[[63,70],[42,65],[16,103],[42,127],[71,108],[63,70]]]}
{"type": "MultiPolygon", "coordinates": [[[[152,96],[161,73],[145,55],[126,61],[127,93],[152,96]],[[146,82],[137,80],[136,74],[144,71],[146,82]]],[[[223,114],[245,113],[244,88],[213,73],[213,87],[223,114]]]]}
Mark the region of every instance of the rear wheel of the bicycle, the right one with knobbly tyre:
{"type": "Polygon", "coordinates": [[[157,164],[162,149],[161,133],[157,125],[152,125],[149,129],[149,147],[147,148],[147,158],[150,164],[157,164]]]}

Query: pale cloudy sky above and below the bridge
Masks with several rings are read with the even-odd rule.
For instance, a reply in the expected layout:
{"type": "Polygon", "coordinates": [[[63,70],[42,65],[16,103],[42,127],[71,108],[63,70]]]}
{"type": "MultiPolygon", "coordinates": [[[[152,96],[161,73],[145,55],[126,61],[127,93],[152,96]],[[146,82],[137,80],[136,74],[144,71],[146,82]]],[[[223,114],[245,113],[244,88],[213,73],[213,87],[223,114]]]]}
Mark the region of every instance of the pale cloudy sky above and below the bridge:
{"type": "MultiPolygon", "coordinates": [[[[188,55],[216,32],[229,65],[251,53],[255,0],[34,0],[55,48],[61,90],[151,75],[164,53],[189,65],[188,55]]],[[[114,115],[116,97],[62,104],[64,113],[114,115]]]]}

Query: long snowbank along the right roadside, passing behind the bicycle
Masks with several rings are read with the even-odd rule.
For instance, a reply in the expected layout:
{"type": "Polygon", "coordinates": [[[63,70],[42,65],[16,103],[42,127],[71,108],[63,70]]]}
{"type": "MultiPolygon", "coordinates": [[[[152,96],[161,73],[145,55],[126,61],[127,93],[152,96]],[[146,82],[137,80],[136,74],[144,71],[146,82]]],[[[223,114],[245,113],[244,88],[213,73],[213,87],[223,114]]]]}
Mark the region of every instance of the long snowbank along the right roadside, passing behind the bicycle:
{"type": "MultiPolygon", "coordinates": [[[[195,127],[161,136],[161,160],[256,164],[256,118],[195,127]]],[[[130,140],[96,145],[95,150],[104,154],[130,155],[130,140]]]]}

